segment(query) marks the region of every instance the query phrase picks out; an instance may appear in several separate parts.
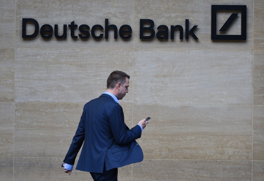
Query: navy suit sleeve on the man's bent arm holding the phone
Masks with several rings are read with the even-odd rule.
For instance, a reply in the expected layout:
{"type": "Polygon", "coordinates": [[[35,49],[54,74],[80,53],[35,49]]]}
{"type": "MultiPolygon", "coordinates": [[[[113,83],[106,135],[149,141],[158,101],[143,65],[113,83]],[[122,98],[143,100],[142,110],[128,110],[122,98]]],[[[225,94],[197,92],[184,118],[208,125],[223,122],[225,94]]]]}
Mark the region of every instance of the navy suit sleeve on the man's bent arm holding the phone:
{"type": "Polygon", "coordinates": [[[124,121],[123,109],[120,105],[112,108],[109,116],[110,128],[117,144],[127,144],[141,137],[141,128],[136,125],[132,129],[127,129],[124,121]]]}

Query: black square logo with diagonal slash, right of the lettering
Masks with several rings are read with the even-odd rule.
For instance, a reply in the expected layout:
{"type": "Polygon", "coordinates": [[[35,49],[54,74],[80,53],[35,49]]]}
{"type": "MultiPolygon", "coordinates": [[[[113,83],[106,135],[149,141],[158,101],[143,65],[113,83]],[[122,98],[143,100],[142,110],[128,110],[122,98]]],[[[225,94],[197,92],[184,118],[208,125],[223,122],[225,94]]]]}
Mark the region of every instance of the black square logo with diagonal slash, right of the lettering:
{"type": "Polygon", "coordinates": [[[246,40],[246,5],[212,5],[211,23],[211,40],[246,40]]]}

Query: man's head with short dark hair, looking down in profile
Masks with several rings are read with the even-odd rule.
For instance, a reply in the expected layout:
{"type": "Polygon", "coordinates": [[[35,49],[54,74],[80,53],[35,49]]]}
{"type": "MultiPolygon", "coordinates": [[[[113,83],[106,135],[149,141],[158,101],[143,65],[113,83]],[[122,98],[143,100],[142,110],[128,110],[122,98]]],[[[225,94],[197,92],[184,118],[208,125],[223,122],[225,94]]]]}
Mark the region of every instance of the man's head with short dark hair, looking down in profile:
{"type": "Polygon", "coordinates": [[[117,99],[123,99],[128,92],[130,76],[121,71],[114,71],[110,73],[107,79],[107,90],[114,94],[117,99]]]}

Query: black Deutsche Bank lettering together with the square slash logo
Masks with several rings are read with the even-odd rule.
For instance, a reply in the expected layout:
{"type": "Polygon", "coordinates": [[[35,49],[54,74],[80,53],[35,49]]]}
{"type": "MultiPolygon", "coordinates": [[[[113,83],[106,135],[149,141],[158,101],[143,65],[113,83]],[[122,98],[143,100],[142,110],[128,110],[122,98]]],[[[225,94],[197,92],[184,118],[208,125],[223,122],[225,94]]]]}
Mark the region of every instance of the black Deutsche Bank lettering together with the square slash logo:
{"type": "MultiPolygon", "coordinates": [[[[246,5],[211,5],[211,40],[246,40],[246,5]],[[220,16],[224,12],[224,16],[220,16]],[[220,18],[219,18],[220,17],[220,18]],[[219,19],[222,21],[218,22],[219,19]],[[224,21],[224,23],[223,23],[224,21]],[[237,32],[237,21],[241,22],[239,25],[239,32],[237,32]],[[235,23],[234,23],[235,22],[235,23]],[[234,28],[235,27],[235,28],[234,28]],[[235,29],[234,34],[230,33],[230,30],[235,29]],[[220,32],[220,33],[219,33],[220,32]]],[[[195,30],[198,25],[194,25],[189,28],[189,19],[185,19],[185,26],[183,25],[158,25],[156,30],[154,29],[155,23],[151,19],[140,19],[140,39],[174,39],[175,32],[179,32],[179,39],[189,39],[191,36],[193,39],[198,40],[195,30]]],[[[105,19],[104,27],[100,24],[93,26],[87,24],[75,24],[72,21],[70,24],[64,24],[63,27],[54,24],[54,27],[50,24],[44,24],[40,27],[37,20],[33,18],[22,18],[22,38],[32,39],[40,33],[42,38],[49,39],[53,35],[57,39],[66,39],[67,30],[70,29],[70,36],[73,39],[78,37],[81,39],[88,39],[92,36],[94,39],[101,39],[103,36],[105,39],[109,37],[109,31],[114,31],[114,39],[119,37],[122,39],[129,39],[132,36],[132,28],[128,24],[124,24],[121,27],[117,27],[114,24],[109,24],[109,20],[105,19]],[[31,26],[30,30],[27,30],[31,26]],[[33,27],[33,28],[32,28],[33,27]],[[60,31],[59,31],[60,29],[60,31]]],[[[231,31],[232,32],[232,31],[231,31]]]]}

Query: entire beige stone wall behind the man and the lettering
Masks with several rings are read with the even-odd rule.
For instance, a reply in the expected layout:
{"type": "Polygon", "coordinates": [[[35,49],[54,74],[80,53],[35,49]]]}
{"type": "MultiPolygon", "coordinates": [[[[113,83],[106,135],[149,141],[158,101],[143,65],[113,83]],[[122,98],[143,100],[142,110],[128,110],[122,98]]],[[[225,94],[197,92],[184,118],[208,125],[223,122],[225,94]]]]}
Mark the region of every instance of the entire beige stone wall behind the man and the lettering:
{"type": "MultiPolygon", "coordinates": [[[[263,5],[263,0],[0,0],[0,181],[92,180],[77,170],[68,176],[60,164],[83,105],[106,90],[114,70],[131,76],[129,93],[120,100],[125,123],[132,128],[151,117],[137,140],[143,162],[119,168],[119,180],[264,180],[263,5]],[[246,40],[211,40],[211,5],[246,5],[246,40]],[[22,18],[38,22],[35,38],[22,38],[22,18]],[[117,26],[117,39],[112,28],[105,39],[105,19],[117,26]],[[140,39],[140,19],[151,19],[155,34],[166,25],[168,40],[140,39]],[[71,34],[73,21],[78,27],[71,34]],[[40,35],[44,24],[53,28],[50,39],[40,35]],[[55,24],[59,35],[66,25],[66,39],[55,38],[55,24]],[[88,39],[80,38],[81,24],[89,25],[88,39]],[[91,35],[96,24],[103,27],[95,31],[101,39],[91,35]],[[124,24],[132,28],[127,40],[119,35],[124,24]],[[171,25],[183,27],[182,40],[179,31],[171,40],[171,25]],[[198,40],[188,34],[195,25],[198,40]]],[[[240,33],[236,12],[226,34],[240,33]]],[[[218,29],[231,13],[217,12],[218,29]]],[[[27,23],[26,34],[34,31],[27,23]]]]}

